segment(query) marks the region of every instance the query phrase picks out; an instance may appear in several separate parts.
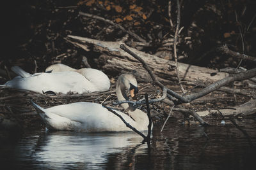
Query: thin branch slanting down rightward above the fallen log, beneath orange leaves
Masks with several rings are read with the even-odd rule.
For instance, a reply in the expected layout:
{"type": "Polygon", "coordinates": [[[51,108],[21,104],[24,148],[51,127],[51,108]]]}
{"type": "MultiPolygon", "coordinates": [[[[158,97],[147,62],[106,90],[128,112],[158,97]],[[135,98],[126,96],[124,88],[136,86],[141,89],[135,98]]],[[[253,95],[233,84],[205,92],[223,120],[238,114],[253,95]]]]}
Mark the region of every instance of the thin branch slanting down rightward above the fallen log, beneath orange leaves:
{"type": "Polygon", "coordinates": [[[128,34],[130,34],[131,36],[133,36],[134,38],[138,39],[139,41],[143,42],[143,43],[147,43],[147,41],[143,38],[141,38],[140,36],[138,36],[137,34],[135,34],[134,32],[128,31],[127,29],[125,29],[124,27],[122,27],[119,24],[115,24],[114,22],[112,22],[111,20],[99,17],[97,15],[92,15],[90,13],[83,13],[83,12],[79,12],[79,15],[85,16],[85,17],[91,17],[97,20],[102,20],[104,22],[107,22],[108,24],[114,25],[115,27],[121,29],[124,32],[127,32],[128,34]]]}

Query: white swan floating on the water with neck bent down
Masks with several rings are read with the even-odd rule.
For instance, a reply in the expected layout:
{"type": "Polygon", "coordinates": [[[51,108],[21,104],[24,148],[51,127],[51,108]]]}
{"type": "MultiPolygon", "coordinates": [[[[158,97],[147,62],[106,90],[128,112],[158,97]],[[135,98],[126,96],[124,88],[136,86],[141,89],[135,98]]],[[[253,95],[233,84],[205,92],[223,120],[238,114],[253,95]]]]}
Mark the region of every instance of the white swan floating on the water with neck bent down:
{"type": "MultiPolygon", "coordinates": [[[[119,101],[128,99],[125,88],[130,90],[132,97],[138,92],[137,81],[132,74],[122,74],[116,81],[116,95],[119,101]]],[[[119,117],[101,104],[79,102],[44,109],[33,101],[31,102],[47,129],[77,132],[131,131],[119,117]]],[[[120,114],[126,122],[138,131],[147,130],[148,117],[146,113],[127,103],[121,105],[132,118],[121,111],[116,111],[116,113],[120,114]]]]}

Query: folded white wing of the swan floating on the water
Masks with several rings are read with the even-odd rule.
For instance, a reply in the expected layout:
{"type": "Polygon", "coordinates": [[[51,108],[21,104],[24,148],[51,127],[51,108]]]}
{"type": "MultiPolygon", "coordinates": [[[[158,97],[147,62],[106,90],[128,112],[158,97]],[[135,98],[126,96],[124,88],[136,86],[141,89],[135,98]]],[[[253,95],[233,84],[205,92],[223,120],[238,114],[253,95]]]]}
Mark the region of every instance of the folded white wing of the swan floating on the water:
{"type": "MultiPolygon", "coordinates": [[[[86,131],[130,131],[124,122],[111,113],[101,104],[96,103],[72,103],[48,108],[47,111],[68,118],[83,124],[86,131]]],[[[129,124],[134,125],[134,121],[129,116],[120,111],[120,114],[129,124]]]]}

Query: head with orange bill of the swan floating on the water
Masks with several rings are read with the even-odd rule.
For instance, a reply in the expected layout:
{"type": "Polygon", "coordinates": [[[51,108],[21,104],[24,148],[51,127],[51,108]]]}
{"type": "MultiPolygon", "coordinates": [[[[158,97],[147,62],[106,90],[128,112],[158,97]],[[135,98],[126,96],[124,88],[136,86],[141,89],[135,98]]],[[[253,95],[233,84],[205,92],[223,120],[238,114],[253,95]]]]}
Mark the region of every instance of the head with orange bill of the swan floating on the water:
{"type": "Polygon", "coordinates": [[[125,88],[129,90],[131,97],[136,97],[136,94],[139,91],[136,78],[134,78],[132,74],[122,74],[118,79],[125,86],[125,88]]]}

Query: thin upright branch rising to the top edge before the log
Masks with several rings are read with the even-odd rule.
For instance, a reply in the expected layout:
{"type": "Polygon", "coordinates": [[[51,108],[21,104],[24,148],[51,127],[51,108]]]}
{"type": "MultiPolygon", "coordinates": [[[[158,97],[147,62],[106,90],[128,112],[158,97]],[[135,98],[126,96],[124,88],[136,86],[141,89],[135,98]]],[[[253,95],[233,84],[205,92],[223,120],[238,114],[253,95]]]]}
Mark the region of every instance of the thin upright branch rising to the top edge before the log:
{"type": "Polygon", "coordinates": [[[177,73],[178,84],[180,85],[180,89],[182,90],[182,93],[184,94],[185,90],[180,81],[180,73],[179,73],[178,57],[177,57],[177,49],[176,49],[176,43],[177,43],[179,29],[180,29],[180,1],[177,0],[177,25],[176,25],[175,35],[173,38],[173,51],[174,51],[173,53],[174,53],[174,59],[175,59],[175,71],[177,73]]]}

